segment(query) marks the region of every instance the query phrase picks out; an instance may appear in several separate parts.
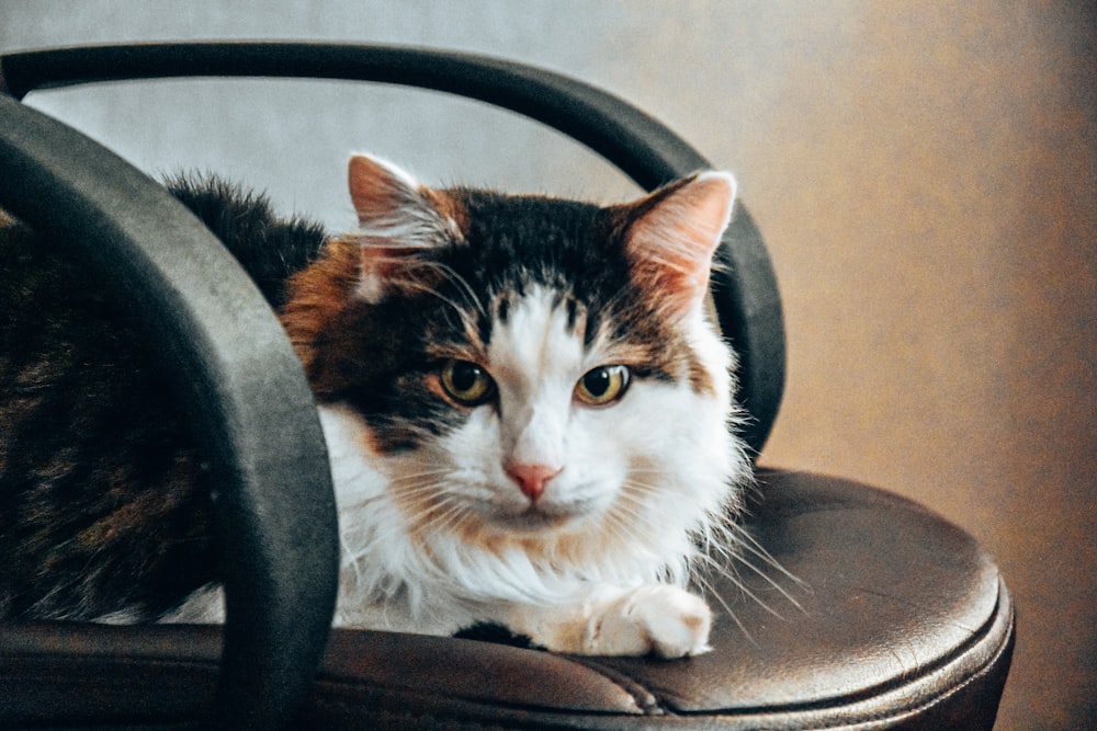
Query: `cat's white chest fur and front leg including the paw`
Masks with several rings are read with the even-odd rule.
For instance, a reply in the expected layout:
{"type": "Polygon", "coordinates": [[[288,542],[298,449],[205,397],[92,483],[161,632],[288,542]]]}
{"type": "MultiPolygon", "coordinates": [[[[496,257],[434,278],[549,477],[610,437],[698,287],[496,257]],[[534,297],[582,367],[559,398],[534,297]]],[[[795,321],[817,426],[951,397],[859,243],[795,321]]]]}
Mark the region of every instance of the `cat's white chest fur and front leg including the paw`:
{"type": "MultiPolygon", "coordinates": [[[[342,523],[336,626],[452,635],[494,621],[559,652],[674,658],[709,649],[709,607],[660,583],[657,557],[647,557],[646,571],[611,566],[610,553],[562,571],[521,544],[486,549],[444,535],[417,542],[387,494],[389,478],[363,456],[369,435],[360,420],[341,408],[321,408],[320,418],[342,523]]],[[[667,532],[667,544],[675,534],[667,532]]]]}

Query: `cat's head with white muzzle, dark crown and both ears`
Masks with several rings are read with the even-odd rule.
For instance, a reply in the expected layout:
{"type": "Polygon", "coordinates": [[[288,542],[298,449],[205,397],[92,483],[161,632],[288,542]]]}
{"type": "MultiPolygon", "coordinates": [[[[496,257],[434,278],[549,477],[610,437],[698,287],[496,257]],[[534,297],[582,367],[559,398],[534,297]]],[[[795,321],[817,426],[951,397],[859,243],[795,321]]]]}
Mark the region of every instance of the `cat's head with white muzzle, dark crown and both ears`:
{"type": "Polygon", "coordinates": [[[410,533],[608,540],[726,506],[745,460],[704,296],[734,190],[706,172],[600,207],[351,160],[360,230],[283,320],[410,533]]]}

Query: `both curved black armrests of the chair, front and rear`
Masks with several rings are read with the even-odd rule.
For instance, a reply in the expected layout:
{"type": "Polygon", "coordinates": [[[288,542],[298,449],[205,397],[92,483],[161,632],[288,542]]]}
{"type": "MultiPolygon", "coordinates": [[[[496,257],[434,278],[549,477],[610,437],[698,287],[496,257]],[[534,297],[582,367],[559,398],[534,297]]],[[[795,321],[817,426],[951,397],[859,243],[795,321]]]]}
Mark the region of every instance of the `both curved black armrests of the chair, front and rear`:
{"type": "MultiPolygon", "coordinates": [[[[299,363],[247,275],[162,187],[20,104],[50,87],[139,78],[308,77],[398,83],[482,100],[587,145],[645,189],[710,167],[634,106],[558,73],[480,56],[361,45],[188,43],[0,56],[0,206],[110,270],[194,403],[223,486],[216,506],[228,618],[214,718],[269,728],[303,697],[335,602],[338,537],[323,437],[299,363]]],[[[769,256],[739,206],[712,294],[740,363],[738,400],[760,450],[784,384],[769,256]]]]}

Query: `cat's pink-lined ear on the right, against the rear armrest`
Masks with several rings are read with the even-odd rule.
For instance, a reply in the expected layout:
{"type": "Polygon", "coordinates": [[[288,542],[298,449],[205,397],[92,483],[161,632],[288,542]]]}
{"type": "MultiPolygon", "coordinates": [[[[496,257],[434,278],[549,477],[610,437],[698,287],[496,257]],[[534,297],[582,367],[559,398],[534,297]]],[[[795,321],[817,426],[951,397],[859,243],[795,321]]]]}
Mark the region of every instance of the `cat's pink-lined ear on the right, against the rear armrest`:
{"type": "Polygon", "coordinates": [[[730,173],[703,172],[624,206],[625,253],[636,282],[675,311],[699,302],[734,202],[730,173]]]}

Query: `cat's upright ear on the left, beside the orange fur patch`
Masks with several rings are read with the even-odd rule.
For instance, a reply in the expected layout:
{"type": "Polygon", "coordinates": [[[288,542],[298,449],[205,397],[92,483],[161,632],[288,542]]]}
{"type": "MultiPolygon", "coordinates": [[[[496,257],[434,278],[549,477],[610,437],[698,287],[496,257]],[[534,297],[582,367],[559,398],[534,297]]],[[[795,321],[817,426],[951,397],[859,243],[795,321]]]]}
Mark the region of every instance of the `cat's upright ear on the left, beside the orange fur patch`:
{"type": "Polygon", "coordinates": [[[460,239],[459,206],[378,158],[351,157],[347,176],[361,243],[358,294],[376,304],[402,284],[421,279],[430,252],[460,239]]]}

